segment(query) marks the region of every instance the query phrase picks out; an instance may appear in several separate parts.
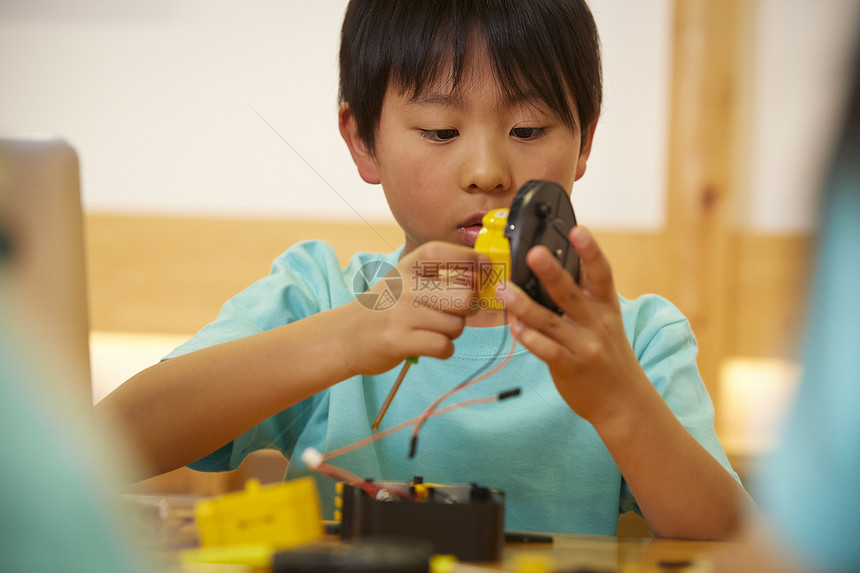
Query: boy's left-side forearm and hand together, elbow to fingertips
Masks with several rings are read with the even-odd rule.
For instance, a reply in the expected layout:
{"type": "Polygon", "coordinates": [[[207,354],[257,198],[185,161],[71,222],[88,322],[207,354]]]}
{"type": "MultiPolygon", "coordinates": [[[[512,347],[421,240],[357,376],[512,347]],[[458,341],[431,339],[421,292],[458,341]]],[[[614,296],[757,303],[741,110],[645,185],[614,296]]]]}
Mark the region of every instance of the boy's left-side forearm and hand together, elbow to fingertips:
{"type": "MultiPolygon", "coordinates": [[[[415,277],[428,283],[425,291],[404,289],[385,310],[355,299],[161,362],[115,390],[97,413],[125,429],[148,475],[186,465],[351,376],[387,372],[408,356],[450,357],[464,317],[474,312],[467,303],[476,293],[462,287],[443,293],[441,279],[421,275],[424,267],[417,261],[462,267],[485,258],[473,249],[429,242],[398,263],[401,277],[418,273],[415,277]],[[427,292],[440,303],[422,302],[426,297],[419,295],[427,292]]],[[[386,289],[387,283],[378,281],[368,292],[382,296],[386,289]]]]}

